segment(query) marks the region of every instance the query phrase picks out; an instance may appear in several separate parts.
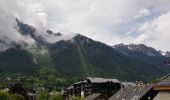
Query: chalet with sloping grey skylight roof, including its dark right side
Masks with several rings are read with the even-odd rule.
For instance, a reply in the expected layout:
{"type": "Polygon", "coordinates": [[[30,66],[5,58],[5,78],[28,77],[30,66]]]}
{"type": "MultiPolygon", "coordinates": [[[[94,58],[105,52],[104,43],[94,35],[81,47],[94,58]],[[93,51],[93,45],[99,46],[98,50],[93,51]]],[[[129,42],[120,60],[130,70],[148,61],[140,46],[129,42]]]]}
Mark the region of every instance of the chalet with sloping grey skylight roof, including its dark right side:
{"type": "Polygon", "coordinates": [[[109,100],[152,100],[157,91],[153,86],[129,86],[119,90],[109,100]]]}

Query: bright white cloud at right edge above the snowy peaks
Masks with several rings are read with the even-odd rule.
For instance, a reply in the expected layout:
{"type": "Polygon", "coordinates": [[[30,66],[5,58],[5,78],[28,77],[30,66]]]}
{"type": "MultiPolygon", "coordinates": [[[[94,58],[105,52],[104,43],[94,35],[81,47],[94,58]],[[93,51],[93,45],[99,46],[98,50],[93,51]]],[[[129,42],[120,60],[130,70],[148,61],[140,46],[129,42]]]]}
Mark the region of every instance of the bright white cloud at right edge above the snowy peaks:
{"type": "Polygon", "coordinates": [[[151,22],[144,23],[139,31],[142,33],[136,41],[147,43],[156,48],[170,50],[170,12],[160,15],[151,22]]]}

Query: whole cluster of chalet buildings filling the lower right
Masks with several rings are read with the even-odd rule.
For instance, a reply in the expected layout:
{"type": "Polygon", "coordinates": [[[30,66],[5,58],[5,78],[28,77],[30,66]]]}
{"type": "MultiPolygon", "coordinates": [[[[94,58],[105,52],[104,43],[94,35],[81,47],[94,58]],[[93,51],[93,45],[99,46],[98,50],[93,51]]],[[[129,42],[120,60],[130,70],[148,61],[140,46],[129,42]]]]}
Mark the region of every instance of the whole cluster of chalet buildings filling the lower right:
{"type": "Polygon", "coordinates": [[[88,77],[65,89],[63,100],[69,100],[69,96],[81,96],[84,100],[169,100],[169,90],[169,75],[155,84],[88,77]]]}

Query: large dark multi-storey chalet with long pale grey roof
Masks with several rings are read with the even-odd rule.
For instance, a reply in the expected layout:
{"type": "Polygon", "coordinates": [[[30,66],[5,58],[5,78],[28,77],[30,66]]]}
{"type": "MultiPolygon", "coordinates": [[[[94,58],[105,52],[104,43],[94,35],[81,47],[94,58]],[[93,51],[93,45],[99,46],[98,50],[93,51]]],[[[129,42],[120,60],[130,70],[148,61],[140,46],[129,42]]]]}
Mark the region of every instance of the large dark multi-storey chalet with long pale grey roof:
{"type": "Polygon", "coordinates": [[[120,89],[121,83],[117,79],[87,77],[84,81],[74,83],[65,89],[63,96],[87,97],[94,93],[101,93],[109,97],[120,89]]]}

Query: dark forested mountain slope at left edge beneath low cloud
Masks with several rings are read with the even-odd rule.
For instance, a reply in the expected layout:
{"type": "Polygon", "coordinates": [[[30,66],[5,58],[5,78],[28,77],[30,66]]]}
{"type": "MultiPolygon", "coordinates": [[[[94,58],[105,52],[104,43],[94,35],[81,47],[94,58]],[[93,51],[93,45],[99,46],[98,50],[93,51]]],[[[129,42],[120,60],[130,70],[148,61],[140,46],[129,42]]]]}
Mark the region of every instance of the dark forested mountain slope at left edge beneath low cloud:
{"type": "Polygon", "coordinates": [[[8,49],[0,53],[0,73],[35,73],[36,64],[32,55],[21,49],[8,49]]]}

